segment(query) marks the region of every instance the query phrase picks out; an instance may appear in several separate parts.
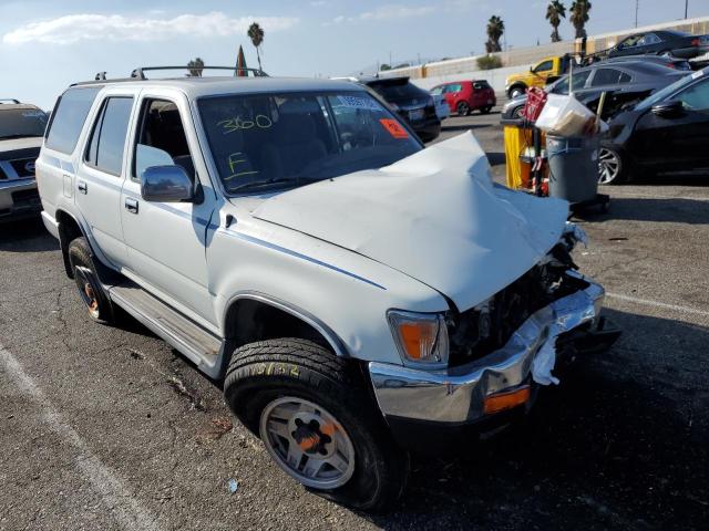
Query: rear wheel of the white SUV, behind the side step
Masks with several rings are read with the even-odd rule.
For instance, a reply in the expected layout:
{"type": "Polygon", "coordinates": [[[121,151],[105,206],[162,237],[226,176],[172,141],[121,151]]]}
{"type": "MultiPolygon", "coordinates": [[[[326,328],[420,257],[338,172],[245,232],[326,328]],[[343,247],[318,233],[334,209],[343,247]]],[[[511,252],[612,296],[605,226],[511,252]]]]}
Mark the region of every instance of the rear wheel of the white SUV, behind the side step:
{"type": "Polygon", "coordinates": [[[97,323],[113,323],[113,303],[99,280],[89,242],[83,237],[76,238],[69,243],[66,252],[79,295],[89,311],[89,316],[97,323]]]}

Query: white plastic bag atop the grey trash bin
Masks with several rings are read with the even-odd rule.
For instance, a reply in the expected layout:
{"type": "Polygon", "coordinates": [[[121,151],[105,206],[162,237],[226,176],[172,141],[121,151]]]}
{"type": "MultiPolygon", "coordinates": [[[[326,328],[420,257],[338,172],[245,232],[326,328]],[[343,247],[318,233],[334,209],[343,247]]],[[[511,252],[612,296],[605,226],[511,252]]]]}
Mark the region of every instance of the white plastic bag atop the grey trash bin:
{"type": "Polygon", "coordinates": [[[596,115],[573,96],[549,94],[536,126],[548,135],[583,136],[596,133],[596,115]]]}

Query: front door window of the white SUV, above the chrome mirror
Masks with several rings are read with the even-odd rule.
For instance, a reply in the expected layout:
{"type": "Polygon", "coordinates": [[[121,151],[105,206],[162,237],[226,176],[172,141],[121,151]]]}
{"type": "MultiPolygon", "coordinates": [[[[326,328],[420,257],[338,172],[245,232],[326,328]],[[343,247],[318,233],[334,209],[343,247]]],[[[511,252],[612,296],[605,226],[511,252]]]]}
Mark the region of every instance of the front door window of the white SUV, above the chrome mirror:
{"type": "Polygon", "coordinates": [[[182,166],[194,181],[195,166],[177,105],[167,100],[143,102],[131,178],[141,180],[151,166],[182,166]]]}

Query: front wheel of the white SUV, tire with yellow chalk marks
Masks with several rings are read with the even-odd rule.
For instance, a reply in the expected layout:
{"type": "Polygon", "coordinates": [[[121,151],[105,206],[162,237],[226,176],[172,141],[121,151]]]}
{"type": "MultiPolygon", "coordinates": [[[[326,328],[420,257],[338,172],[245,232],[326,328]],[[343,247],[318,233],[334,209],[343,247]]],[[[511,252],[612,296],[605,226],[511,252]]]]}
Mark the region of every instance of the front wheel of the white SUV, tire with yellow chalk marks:
{"type": "Polygon", "coordinates": [[[366,511],[401,496],[409,456],[352,363],[306,340],[251,343],[235,351],[224,394],[274,461],[312,492],[366,511]]]}

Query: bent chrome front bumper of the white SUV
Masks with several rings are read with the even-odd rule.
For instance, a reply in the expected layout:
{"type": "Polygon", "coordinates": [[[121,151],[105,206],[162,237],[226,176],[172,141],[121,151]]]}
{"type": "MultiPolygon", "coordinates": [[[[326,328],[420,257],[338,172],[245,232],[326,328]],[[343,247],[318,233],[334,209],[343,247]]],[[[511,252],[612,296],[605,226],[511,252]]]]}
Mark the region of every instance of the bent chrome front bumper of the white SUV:
{"type": "MultiPolygon", "coordinates": [[[[466,365],[421,371],[370,362],[377,403],[390,427],[402,423],[461,426],[490,417],[484,413],[485,398],[530,384],[538,353],[548,353],[549,346],[554,351],[559,336],[579,332],[584,325],[593,334],[599,322],[604,289],[586,282],[585,289],[534,313],[504,347],[466,365]]],[[[606,336],[606,346],[617,335],[606,336]]]]}

